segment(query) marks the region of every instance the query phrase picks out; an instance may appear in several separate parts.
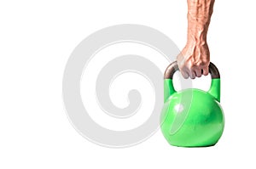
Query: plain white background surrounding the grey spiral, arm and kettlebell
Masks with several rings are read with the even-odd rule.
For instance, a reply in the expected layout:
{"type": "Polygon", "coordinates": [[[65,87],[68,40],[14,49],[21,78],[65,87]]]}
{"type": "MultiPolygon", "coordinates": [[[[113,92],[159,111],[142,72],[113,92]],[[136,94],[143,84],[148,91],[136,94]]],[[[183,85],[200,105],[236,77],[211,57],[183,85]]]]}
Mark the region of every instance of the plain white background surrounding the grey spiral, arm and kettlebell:
{"type": "Polygon", "coordinates": [[[186,1],[1,1],[0,168],[255,168],[253,2],[214,5],[208,43],[226,119],[218,144],[176,148],[158,131],[142,144],[109,149],[67,119],[61,80],[69,55],[91,33],[118,24],[148,25],[181,49],[186,1]]]}

